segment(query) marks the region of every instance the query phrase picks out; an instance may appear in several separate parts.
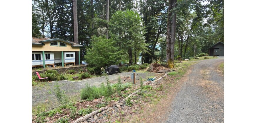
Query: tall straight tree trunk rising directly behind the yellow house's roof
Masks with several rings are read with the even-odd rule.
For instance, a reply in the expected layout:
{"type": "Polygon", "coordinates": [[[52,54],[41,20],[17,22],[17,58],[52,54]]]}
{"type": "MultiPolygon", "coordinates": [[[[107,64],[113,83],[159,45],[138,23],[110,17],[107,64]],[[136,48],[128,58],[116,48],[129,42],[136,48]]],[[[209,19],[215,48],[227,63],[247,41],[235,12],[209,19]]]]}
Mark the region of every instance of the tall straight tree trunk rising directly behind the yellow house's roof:
{"type": "MultiPolygon", "coordinates": [[[[78,24],[77,24],[77,0],[73,0],[73,16],[74,16],[74,42],[79,44],[78,41],[78,24]]],[[[79,52],[75,52],[75,62],[79,64],[79,52]]]]}

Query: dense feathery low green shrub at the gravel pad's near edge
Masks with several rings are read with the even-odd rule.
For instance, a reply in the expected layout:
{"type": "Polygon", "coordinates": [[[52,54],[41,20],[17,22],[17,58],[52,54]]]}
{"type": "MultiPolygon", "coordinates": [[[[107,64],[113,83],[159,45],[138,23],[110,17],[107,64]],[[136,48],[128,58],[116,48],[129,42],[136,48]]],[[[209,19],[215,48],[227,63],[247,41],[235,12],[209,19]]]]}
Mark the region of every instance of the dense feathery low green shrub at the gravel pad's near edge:
{"type": "Polygon", "coordinates": [[[93,100],[95,98],[100,98],[99,89],[95,86],[90,86],[88,83],[85,84],[85,88],[81,90],[82,100],[93,100]]]}

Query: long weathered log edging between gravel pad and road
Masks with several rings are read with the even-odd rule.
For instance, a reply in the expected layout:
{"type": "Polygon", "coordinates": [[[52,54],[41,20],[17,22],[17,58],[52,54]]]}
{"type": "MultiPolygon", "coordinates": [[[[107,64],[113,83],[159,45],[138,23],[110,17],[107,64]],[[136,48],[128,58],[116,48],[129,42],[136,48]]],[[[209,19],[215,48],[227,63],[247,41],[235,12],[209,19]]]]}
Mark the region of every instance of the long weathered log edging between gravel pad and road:
{"type": "MultiPolygon", "coordinates": [[[[154,80],[154,81],[146,81],[146,82],[144,83],[144,85],[147,84],[147,83],[150,83],[150,82],[151,82],[151,83],[150,83],[149,85],[152,85],[152,84],[154,84],[155,82],[157,82],[157,81],[161,80],[162,78],[164,78],[165,76],[167,76],[167,74],[164,74],[163,76],[161,76],[161,77],[158,78],[157,80],[154,80]]],[[[157,77],[154,77],[154,79],[155,79],[155,78],[157,78],[157,77]]],[[[138,85],[137,85],[137,86],[138,86],[138,85]]],[[[131,93],[131,94],[128,95],[126,98],[124,98],[124,99],[122,100],[122,102],[124,102],[124,100],[127,100],[129,97],[133,96],[134,94],[138,93],[139,91],[140,91],[140,89],[138,89],[137,91],[131,93]]],[[[90,117],[96,115],[96,114],[99,113],[99,112],[102,112],[103,110],[106,110],[108,107],[111,107],[111,106],[113,106],[113,105],[116,105],[116,104],[119,103],[119,102],[120,102],[120,100],[118,100],[117,102],[114,102],[113,104],[110,104],[110,105],[108,105],[108,106],[102,107],[102,108],[100,108],[100,109],[98,109],[98,110],[96,110],[96,111],[94,111],[94,112],[92,112],[92,113],[90,113],[90,114],[88,114],[88,115],[85,115],[85,116],[83,116],[83,117],[80,117],[80,118],[78,118],[74,123],[81,123],[81,122],[84,122],[84,121],[86,121],[87,119],[89,119],[90,117]]]]}

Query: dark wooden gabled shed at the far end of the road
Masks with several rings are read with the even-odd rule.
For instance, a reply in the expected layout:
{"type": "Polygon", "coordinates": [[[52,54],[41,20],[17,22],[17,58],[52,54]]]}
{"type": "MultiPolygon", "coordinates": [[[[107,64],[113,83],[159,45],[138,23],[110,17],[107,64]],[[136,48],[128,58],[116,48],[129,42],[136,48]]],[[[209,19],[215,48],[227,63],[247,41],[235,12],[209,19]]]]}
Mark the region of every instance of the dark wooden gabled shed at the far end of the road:
{"type": "Polygon", "coordinates": [[[209,56],[224,56],[224,44],[222,42],[218,42],[212,47],[208,48],[209,56]]]}

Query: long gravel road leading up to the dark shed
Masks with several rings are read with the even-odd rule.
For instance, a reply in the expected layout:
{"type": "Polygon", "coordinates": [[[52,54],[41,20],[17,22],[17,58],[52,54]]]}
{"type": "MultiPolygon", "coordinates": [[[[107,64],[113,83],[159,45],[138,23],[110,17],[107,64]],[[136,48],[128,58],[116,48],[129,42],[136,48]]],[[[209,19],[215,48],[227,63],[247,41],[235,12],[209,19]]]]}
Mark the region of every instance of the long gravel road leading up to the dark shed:
{"type": "Polygon", "coordinates": [[[181,79],[183,84],[169,105],[166,122],[224,122],[224,76],[218,65],[224,57],[202,60],[181,79]]]}

